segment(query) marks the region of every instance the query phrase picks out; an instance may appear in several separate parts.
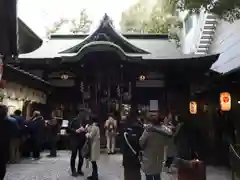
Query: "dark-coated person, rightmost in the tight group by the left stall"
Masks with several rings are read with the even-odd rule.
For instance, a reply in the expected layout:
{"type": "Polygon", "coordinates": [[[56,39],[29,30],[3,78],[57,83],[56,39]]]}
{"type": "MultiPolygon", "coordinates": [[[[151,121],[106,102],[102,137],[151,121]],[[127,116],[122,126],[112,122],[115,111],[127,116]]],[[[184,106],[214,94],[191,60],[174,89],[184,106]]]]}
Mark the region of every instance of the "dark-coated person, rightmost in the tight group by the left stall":
{"type": "Polygon", "coordinates": [[[33,112],[33,117],[28,123],[30,133],[31,150],[34,160],[40,158],[42,142],[44,137],[45,122],[39,111],[33,112]]]}

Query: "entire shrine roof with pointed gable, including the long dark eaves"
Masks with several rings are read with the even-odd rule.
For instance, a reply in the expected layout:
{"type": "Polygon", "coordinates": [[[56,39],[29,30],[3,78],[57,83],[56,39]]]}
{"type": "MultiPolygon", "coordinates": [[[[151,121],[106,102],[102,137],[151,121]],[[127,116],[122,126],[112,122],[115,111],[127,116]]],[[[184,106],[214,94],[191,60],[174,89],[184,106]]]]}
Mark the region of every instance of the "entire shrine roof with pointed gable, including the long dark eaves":
{"type": "MultiPolygon", "coordinates": [[[[161,63],[161,65],[169,63],[171,63],[171,65],[180,65],[184,62],[184,67],[186,64],[190,64],[191,67],[198,66],[196,65],[197,63],[199,66],[208,67],[208,69],[218,58],[217,54],[182,54],[175,42],[168,39],[168,35],[121,34],[115,30],[112,21],[105,15],[99,27],[91,34],[52,35],[50,39],[43,42],[42,46],[36,51],[21,54],[19,60],[21,63],[26,64],[44,64],[50,62],[70,63],[81,60],[84,55],[89,52],[98,51],[114,51],[117,52],[122,59],[130,61],[151,61],[153,63],[161,63]],[[161,60],[161,62],[159,60],[161,60]],[[204,63],[202,63],[201,60],[204,60],[204,63]],[[179,63],[175,63],[177,61],[179,61],[179,63]]],[[[166,65],[166,67],[167,66],[168,65],[166,65]]]]}

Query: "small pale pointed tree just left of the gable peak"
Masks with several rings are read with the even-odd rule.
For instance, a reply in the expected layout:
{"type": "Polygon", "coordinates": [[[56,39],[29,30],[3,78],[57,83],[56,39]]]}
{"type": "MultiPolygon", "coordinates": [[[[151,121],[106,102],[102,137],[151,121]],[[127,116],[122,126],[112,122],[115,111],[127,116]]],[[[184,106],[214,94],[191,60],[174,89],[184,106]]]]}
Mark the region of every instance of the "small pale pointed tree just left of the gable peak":
{"type": "Polygon", "coordinates": [[[89,19],[86,9],[82,9],[78,19],[73,19],[71,21],[70,31],[73,34],[77,33],[87,33],[90,31],[92,21],[89,19]]]}

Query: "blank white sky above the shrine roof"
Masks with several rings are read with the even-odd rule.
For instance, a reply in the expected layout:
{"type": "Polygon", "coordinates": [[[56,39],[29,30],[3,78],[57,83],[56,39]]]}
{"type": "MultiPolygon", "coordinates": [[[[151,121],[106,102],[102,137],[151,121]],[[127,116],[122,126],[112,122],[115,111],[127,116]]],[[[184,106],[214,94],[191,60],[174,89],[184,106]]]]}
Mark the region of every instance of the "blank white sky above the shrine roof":
{"type": "MultiPolygon", "coordinates": [[[[87,9],[95,28],[107,13],[119,29],[121,13],[137,0],[18,0],[18,17],[39,37],[46,36],[46,29],[60,18],[73,19],[81,9],[87,9]]],[[[66,32],[67,33],[67,32],[66,32]]]]}

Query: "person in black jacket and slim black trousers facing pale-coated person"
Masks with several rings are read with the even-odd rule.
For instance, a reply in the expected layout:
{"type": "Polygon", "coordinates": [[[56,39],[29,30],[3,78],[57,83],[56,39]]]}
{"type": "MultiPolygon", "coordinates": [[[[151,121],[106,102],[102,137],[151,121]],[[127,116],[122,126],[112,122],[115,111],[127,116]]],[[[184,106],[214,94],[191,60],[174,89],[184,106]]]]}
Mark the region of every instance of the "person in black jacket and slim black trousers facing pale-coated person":
{"type": "Polygon", "coordinates": [[[83,157],[82,157],[82,148],[86,142],[86,125],[87,114],[84,110],[80,110],[78,116],[73,119],[69,124],[69,133],[71,135],[71,171],[72,176],[76,177],[78,175],[83,176],[84,173],[82,172],[82,165],[83,165],[83,157]],[[79,157],[78,161],[78,168],[76,171],[75,162],[76,157],[79,157]]]}

